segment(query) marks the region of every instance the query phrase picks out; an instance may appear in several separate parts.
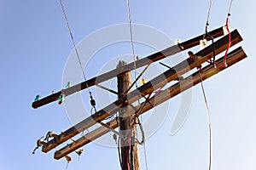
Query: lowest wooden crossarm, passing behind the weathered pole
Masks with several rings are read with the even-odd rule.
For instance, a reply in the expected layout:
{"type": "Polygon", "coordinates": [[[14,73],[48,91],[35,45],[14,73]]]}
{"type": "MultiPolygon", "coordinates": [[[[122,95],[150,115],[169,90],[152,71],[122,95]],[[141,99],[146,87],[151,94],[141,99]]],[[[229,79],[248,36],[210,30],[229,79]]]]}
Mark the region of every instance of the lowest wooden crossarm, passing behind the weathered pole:
{"type": "MultiPolygon", "coordinates": [[[[177,82],[176,84],[172,85],[170,88],[166,88],[166,90],[162,91],[157,97],[154,97],[150,99],[150,103],[153,105],[148,104],[147,101],[145,101],[145,105],[143,107],[143,110],[141,111],[141,114],[145,113],[146,111],[149,111],[153,108],[153,106],[157,106],[162,104],[168,99],[172,99],[177,94],[181,94],[183,91],[192,88],[196,84],[204,80],[207,80],[209,77],[212,77],[216,75],[220,71],[224,71],[225,69],[229,68],[231,65],[235,65],[237,62],[241,61],[242,59],[245,59],[247,55],[244,53],[242,48],[236,48],[236,50],[232,51],[227,56],[227,64],[228,67],[218,67],[214,68],[213,65],[207,65],[204,67],[201,71],[201,78],[200,73],[197,71],[194,74],[191,75],[191,77],[185,78],[182,82],[177,82]],[[192,81],[192,82],[191,82],[192,81]],[[181,89],[182,87],[182,89],[181,89]]],[[[224,58],[218,59],[218,63],[222,63],[224,58]]],[[[139,106],[135,106],[135,108],[139,109],[139,106]]],[[[118,127],[118,122],[114,119],[107,123],[109,127],[116,128],[118,127]]],[[[80,139],[77,139],[72,144],[68,144],[61,150],[55,151],[55,159],[60,159],[63,156],[66,156],[67,154],[73,152],[74,150],[78,150],[79,148],[83,147],[85,144],[89,144],[91,141],[100,138],[102,135],[108,133],[109,130],[106,127],[98,127],[94,131],[85,134],[80,139]]]]}

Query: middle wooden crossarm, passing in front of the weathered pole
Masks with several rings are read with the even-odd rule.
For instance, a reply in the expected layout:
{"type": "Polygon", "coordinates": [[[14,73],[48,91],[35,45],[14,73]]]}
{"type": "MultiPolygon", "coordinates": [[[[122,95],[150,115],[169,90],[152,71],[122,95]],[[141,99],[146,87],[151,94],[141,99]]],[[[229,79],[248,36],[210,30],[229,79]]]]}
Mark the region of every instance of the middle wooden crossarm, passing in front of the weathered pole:
{"type": "MultiPolygon", "coordinates": [[[[229,42],[228,39],[229,36],[227,35],[219,39],[217,42],[215,42],[215,54],[220,54],[224,52],[229,42]]],[[[241,40],[242,38],[237,30],[231,32],[231,46],[235,45],[238,42],[241,42],[241,40]]],[[[194,69],[197,65],[201,65],[208,59],[211,59],[213,55],[212,47],[209,46],[207,48],[204,48],[195,55],[201,56],[201,58],[196,61],[196,64],[195,60],[191,58],[183,60],[181,63],[174,66],[173,69],[164,72],[158,77],[155,77],[150,82],[147,82],[143,86],[137,88],[137,90],[132,91],[131,93],[125,95],[123,98],[118,99],[114,101],[112,104],[103,108],[102,110],[97,111],[94,115],[84,119],[82,122],[79,122],[75,126],[70,127],[65,132],[59,135],[59,139],[50,140],[48,145],[43,146],[42,150],[44,152],[52,150],[57,145],[67,141],[67,139],[73,138],[73,136],[77,135],[78,133],[95,125],[96,122],[101,122],[102,120],[106,119],[108,116],[113,114],[113,111],[121,107],[126,100],[129,100],[129,103],[133,103],[138,99],[141,99],[143,96],[151,94],[154,91],[154,89],[165,86],[166,83],[171,82],[172,80],[176,80],[177,77],[183,75],[191,69],[194,69]]]]}

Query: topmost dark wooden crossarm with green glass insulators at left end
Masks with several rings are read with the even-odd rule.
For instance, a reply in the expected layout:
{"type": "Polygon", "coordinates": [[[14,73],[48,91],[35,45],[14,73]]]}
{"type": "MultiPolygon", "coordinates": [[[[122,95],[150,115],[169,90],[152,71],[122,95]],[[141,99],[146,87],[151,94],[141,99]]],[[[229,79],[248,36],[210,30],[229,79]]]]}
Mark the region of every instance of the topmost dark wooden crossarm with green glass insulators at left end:
{"type": "MultiPolygon", "coordinates": [[[[223,31],[223,27],[219,27],[216,30],[210,31],[209,34],[216,38],[216,37],[221,37],[224,35],[224,31],[223,31]]],[[[160,59],[164,59],[167,56],[173,55],[173,54],[177,54],[183,50],[189,49],[189,48],[193,48],[196,45],[198,45],[200,43],[200,40],[203,38],[203,35],[192,38],[186,42],[182,42],[178,45],[174,45],[172,47],[166,48],[160,52],[157,52],[155,54],[151,54],[146,58],[143,59],[138,59],[136,61],[136,67],[140,68],[144,65],[149,65],[152,62],[158,61],[160,59]]],[[[207,40],[210,40],[211,37],[205,37],[207,40]]],[[[61,91],[55,93],[55,94],[51,94],[43,99],[39,99],[38,101],[34,101],[32,103],[32,108],[37,109],[38,107],[41,107],[43,105],[47,105],[51,102],[54,102],[55,100],[57,100],[59,98],[59,96],[61,94],[65,94],[65,96],[67,97],[70,94],[74,94],[76,92],[79,92],[85,88],[91,87],[96,85],[96,83],[101,83],[101,82],[105,82],[113,77],[116,77],[117,75],[127,72],[127,71],[132,71],[134,70],[134,63],[130,63],[128,65],[125,65],[119,69],[114,69],[113,71],[108,71],[100,76],[97,77],[93,77],[90,80],[87,80],[86,82],[81,82],[79,84],[76,84],[70,88],[67,89],[62,89],[61,91]],[[88,87],[87,87],[88,85],[88,87]]]]}

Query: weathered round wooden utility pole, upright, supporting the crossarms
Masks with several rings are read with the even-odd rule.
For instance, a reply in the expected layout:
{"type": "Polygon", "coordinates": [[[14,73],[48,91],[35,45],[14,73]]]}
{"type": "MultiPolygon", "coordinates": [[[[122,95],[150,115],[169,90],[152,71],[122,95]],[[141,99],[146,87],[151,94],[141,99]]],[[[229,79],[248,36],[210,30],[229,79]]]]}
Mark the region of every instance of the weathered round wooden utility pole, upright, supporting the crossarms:
{"type": "MultiPolygon", "coordinates": [[[[117,69],[126,65],[125,61],[119,61],[117,69]]],[[[120,74],[117,77],[119,99],[122,99],[127,90],[131,87],[131,72],[120,74]]],[[[128,102],[124,102],[119,109],[119,150],[122,170],[140,170],[137,138],[136,117],[132,113],[132,108],[128,102]]]]}

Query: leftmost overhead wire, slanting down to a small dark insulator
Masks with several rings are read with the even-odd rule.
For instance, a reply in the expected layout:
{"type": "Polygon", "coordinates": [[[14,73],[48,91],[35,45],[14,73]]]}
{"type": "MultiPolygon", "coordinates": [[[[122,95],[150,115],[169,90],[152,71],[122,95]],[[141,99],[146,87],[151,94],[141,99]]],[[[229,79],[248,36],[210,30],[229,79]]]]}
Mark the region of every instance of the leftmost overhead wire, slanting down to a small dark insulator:
{"type": "Polygon", "coordinates": [[[92,108],[93,108],[94,111],[96,112],[96,102],[95,102],[95,100],[93,99],[93,96],[92,96],[92,94],[91,94],[91,92],[90,92],[90,88],[89,88],[89,86],[88,86],[87,79],[86,79],[86,76],[85,76],[85,73],[84,73],[84,67],[83,67],[82,62],[81,62],[81,59],[80,59],[80,57],[79,57],[79,50],[78,50],[78,48],[77,48],[77,46],[76,46],[76,43],[75,43],[75,40],[74,40],[74,37],[73,37],[73,33],[72,33],[71,28],[70,28],[70,26],[69,26],[69,22],[68,22],[68,20],[67,20],[67,14],[66,14],[66,12],[65,12],[65,8],[64,8],[64,6],[63,6],[62,0],[60,0],[60,3],[61,3],[62,13],[63,13],[64,18],[65,18],[65,20],[66,20],[67,29],[68,29],[68,31],[69,31],[71,40],[72,40],[72,42],[73,42],[73,48],[74,48],[75,53],[76,53],[76,56],[77,56],[77,58],[78,58],[78,60],[79,60],[79,66],[80,66],[80,69],[81,69],[82,74],[83,74],[83,77],[84,77],[85,86],[86,86],[86,88],[87,88],[87,90],[88,90],[88,93],[89,93],[89,95],[90,95],[90,105],[92,106],[92,108]]]}

